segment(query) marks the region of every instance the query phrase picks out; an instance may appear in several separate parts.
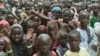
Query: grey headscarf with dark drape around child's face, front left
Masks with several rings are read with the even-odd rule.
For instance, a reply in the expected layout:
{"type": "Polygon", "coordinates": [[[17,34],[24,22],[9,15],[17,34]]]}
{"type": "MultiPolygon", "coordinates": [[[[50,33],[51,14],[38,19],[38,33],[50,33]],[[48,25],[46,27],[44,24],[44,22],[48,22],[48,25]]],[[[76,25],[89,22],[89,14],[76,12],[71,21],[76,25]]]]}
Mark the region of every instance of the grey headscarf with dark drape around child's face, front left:
{"type": "MultiPolygon", "coordinates": [[[[23,31],[23,28],[20,24],[14,24],[12,25],[11,29],[13,28],[20,28],[23,31]]],[[[26,48],[26,42],[22,39],[20,43],[14,43],[12,41],[12,49],[14,56],[27,56],[27,48],[26,48]]]]}

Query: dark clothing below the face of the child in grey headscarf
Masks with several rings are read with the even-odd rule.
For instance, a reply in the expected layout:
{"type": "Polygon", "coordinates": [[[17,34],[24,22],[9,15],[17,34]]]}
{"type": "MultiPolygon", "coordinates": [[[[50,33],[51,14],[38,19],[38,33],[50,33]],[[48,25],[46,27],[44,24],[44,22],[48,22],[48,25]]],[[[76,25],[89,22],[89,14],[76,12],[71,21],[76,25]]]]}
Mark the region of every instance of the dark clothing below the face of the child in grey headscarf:
{"type": "Polygon", "coordinates": [[[22,40],[19,44],[11,43],[14,56],[28,56],[28,50],[26,48],[25,41],[22,40]]]}

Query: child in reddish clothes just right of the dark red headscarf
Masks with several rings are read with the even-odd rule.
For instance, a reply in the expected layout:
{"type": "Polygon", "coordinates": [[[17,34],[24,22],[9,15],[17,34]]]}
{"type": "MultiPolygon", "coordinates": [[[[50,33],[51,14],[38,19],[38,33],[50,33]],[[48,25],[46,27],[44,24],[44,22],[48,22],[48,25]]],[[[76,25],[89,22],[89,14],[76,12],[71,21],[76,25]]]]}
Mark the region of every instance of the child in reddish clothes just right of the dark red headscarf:
{"type": "Polygon", "coordinates": [[[54,21],[54,20],[49,21],[47,23],[47,29],[48,29],[48,34],[50,35],[51,40],[52,40],[52,45],[53,45],[52,48],[53,48],[53,50],[55,50],[59,44],[57,36],[56,36],[56,34],[59,30],[59,27],[58,27],[56,21],[54,21]]]}

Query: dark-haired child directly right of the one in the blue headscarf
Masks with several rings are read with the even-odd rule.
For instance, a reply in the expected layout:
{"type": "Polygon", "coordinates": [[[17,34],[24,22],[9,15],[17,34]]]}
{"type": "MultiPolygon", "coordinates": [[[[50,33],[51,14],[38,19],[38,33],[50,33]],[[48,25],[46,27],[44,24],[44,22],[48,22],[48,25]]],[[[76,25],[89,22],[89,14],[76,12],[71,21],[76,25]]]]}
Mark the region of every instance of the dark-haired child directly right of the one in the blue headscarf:
{"type": "Polygon", "coordinates": [[[71,10],[68,9],[68,8],[64,8],[64,9],[62,10],[62,13],[63,13],[63,14],[62,14],[63,22],[66,23],[66,24],[68,24],[68,27],[69,27],[71,30],[75,29],[76,26],[75,26],[74,22],[71,21],[71,20],[73,19],[74,13],[71,12],[71,10]]]}

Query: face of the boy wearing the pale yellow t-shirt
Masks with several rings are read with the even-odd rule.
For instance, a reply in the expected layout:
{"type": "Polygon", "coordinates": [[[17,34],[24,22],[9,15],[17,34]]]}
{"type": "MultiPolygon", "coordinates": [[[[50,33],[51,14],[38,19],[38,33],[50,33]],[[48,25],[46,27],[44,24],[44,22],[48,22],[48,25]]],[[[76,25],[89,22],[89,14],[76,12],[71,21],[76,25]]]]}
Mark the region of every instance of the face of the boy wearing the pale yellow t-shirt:
{"type": "Polygon", "coordinates": [[[69,36],[69,44],[72,50],[76,50],[79,48],[80,39],[76,34],[72,34],[69,36]]]}

